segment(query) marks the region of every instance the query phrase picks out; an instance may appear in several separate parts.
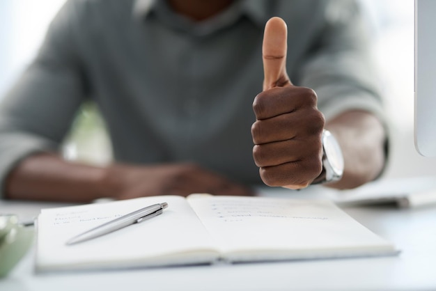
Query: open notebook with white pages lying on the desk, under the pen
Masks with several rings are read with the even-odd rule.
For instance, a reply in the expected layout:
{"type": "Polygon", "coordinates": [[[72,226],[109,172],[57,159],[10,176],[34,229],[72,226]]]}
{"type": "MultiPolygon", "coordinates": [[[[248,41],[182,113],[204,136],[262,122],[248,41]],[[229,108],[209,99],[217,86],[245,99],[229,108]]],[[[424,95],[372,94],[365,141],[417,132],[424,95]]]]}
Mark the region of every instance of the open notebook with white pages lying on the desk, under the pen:
{"type": "Polygon", "coordinates": [[[394,245],[326,200],[194,194],[42,210],[38,271],[391,255],[394,245]],[[154,203],[164,213],[88,242],[71,237],[154,203]]]}

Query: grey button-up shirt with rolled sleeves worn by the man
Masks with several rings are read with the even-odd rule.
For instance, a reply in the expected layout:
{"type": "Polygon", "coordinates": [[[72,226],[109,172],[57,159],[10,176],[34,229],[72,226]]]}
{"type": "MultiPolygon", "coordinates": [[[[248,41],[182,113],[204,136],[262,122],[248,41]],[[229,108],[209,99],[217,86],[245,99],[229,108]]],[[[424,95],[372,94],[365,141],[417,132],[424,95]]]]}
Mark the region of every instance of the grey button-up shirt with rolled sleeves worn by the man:
{"type": "Polygon", "coordinates": [[[235,1],[196,23],[165,1],[72,0],[1,104],[1,189],[20,159],[58,150],[85,100],[98,104],[116,161],[195,162],[259,183],[252,102],[272,16],[288,24],[291,80],[318,93],[327,119],[349,109],[383,118],[354,1],[235,1]]]}

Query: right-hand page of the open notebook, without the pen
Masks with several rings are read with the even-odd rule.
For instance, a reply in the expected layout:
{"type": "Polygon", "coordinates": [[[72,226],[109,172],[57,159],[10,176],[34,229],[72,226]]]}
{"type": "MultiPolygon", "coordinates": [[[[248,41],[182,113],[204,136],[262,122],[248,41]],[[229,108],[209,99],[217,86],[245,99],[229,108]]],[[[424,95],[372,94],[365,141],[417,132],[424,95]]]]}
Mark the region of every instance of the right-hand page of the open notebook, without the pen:
{"type": "Polygon", "coordinates": [[[188,201],[233,260],[394,252],[392,244],[327,200],[194,195],[188,201]]]}

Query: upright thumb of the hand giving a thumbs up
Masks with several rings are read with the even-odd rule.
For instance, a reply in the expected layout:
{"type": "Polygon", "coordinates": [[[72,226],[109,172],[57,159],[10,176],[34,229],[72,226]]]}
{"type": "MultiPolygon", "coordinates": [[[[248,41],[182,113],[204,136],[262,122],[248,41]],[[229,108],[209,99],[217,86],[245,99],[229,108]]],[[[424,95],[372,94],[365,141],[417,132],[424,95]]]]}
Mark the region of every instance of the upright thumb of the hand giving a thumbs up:
{"type": "Polygon", "coordinates": [[[292,85],[286,73],[288,28],[283,19],[272,17],[265,25],[263,35],[263,91],[292,85]]]}

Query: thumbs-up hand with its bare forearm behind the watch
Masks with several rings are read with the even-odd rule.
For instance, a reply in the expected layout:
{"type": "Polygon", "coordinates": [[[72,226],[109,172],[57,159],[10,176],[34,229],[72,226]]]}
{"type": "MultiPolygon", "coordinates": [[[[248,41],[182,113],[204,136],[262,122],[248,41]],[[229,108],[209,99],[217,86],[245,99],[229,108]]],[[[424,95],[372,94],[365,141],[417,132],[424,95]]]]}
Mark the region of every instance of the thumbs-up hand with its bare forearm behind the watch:
{"type": "Polygon", "coordinates": [[[384,127],[364,111],[348,111],[325,124],[310,88],[293,86],[286,72],[286,23],[273,17],[263,38],[263,92],[254,100],[253,156],[265,184],[307,187],[322,171],[322,129],[329,129],[345,159],[343,178],[329,187],[354,188],[384,166],[384,127]]]}

